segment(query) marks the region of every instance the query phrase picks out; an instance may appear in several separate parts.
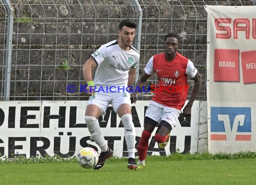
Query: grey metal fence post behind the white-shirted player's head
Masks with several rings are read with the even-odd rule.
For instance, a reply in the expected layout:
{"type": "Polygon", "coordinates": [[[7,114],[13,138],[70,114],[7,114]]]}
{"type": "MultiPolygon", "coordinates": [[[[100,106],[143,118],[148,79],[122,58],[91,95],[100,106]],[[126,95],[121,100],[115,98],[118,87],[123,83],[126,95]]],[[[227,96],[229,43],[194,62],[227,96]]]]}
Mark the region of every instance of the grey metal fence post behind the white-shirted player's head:
{"type": "MultiPolygon", "coordinates": [[[[135,38],[135,47],[140,52],[141,50],[141,27],[142,27],[142,9],[141,5],[139,4],[138,0],[131,0],[133,5],[137,6],[137,37],[135,38]]],[[[140,69],[140,62],[138,63],[138,66],[136,68],[136,76],[135,76],[135,83],[139,79],[139,69],[140,69]]]]}

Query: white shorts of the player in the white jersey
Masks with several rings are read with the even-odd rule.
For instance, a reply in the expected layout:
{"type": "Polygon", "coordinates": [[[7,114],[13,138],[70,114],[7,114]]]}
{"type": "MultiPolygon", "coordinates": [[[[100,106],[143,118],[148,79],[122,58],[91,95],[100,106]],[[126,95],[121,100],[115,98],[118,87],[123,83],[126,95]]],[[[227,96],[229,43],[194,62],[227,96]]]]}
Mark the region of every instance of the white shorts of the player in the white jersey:
{"type": "Polygon", "coordinates": [[[122,104],[131,104],[131,95],[130,93],[95,93],[95,98],[93,96],[90,97],[87,105],[96,105],[102,110],[102,115],[106,115],[106,109],[111,104],[115,112],[120,105],[122,104]]]}

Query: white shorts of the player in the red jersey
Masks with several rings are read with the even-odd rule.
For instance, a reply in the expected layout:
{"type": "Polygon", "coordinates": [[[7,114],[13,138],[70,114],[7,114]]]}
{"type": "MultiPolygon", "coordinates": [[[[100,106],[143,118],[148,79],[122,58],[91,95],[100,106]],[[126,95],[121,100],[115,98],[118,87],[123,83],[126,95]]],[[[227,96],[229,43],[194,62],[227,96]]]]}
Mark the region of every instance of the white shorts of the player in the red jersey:
{"type": "Polygon", "coordinates": [[[181,110],[163,106],[162,104],[155,101],[150,101],[145,116],[153,119],[157,123],[160,123],[161,120],[164,120],[168,122],[172,128],[174,128],[180,114],[181,110]]]}

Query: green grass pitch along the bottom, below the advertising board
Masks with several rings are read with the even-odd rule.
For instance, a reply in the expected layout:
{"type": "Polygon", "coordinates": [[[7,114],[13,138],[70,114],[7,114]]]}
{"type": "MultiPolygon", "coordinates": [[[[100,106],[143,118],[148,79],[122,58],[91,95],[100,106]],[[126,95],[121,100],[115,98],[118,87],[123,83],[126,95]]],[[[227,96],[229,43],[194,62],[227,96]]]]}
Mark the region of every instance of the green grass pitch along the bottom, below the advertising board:
{"type": "Polygon", "coordinates": [[[256,154],[149,156],[146,167],[128,170],[127,159],[109,159],[100,170],[75,159],[0,160],[0,185],[254,185],[256,154]]]}

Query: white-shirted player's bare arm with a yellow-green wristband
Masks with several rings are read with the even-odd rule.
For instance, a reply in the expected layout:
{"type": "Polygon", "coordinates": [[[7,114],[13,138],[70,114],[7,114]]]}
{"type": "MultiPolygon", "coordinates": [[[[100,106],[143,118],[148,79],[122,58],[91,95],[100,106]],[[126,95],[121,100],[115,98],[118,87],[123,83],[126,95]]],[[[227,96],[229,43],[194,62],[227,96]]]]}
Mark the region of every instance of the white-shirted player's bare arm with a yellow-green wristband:
{"type": "MultiPolygon", "coordinates": [[[[89,89],[89,85],[90,83],[88,82],[93,82],[93,76],[92,76],[92,69],[94,67],[97,66],[97,63],[94,61],[94,59],[92,57],[90,57],[85,63],[84,63],[84,66],[82,68],[82,71],[83,71],[83,75],[84,75],[84,79],[85,81],[87,82],[88,84],[88,87],[86,88],[86,90],[88,91],[88,94],[89,95],[92,95],[93,92],[90,92],[90,89],[89,89]]],[[[94,84],[92,84],[92,86],[94,86],[94,84]]]]}

